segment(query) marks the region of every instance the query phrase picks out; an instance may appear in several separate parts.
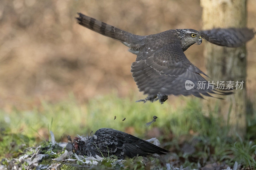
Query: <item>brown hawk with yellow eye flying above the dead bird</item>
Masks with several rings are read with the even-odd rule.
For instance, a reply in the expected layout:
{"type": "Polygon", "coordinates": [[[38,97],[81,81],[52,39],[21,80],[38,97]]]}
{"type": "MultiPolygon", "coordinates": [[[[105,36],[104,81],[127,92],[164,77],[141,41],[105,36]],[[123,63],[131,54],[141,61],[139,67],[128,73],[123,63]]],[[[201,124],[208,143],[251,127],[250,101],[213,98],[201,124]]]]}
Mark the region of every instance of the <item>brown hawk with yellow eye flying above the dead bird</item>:
{"type": "MultiPolygon", "coordinates": [[[[97,33],[121,41],[129,47],[129,51],[137,55],[132,63],[132,77],[140,91],[148,97],[138,101],[156,101],[162,104],[168,95],[194,95],[203,98],[211,96],[209,93],[221,95],[231,92],[219,91],[214,88],[197,89],[198,82],[206,81],[201,74],[207,76],[190,63],[184,51],[191,45],[200,45],[202,38],[219,46],[239,47],[254,37],[249,28],[217,28],[196,31],[194,29],[171,29],[161,33],[140,36],[135,35],[104,22],[78,13],[78,24],[97,33]],[[189,90],[185,82],[194,84],[189,90]]],[[[206,87],[208,83],[206,81],[206,87]]],[[[212,97],[212,96],[211,96],[212,97]]]]}

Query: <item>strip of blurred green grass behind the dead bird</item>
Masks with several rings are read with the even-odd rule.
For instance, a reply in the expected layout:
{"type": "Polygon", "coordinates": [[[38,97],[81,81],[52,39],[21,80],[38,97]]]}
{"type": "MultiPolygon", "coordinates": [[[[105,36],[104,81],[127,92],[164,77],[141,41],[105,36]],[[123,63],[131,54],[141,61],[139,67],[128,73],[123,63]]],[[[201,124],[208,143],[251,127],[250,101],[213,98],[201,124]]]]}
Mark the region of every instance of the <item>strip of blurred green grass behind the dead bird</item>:
{"type": "Polygon", "coordinates": [[[137,99],[111,94],[91,99],[84,105],[69,100],[55,104],[42,102],[30,111],[13,108],[7,113],[0,110],[0,158],[15,157],[25,147],[47,140],[44,133],[48,135],[49,130],[53,131],[57,141],[66,141],[66,135],[86,135],[103,127],[129,129],[141,138],[147,138],[147,133],[157,128],[161,133],[158,139],[167,149],[175,151],[172,154],[177,159],[184,159],[181,161],[183,167],[196,168],[197,162],[205,165],[210,160],[224,161],[228,165],[237,161],[245,167],[256,167],[255,141],[249,140],[249,137],[255,137],[254,114],[248,118],[249,130],[245,139],[241,139],[228,136],[229,126],[217,111],[205,116],[199,99],[180,97],[175,103],[167,100],[163,105],[134,102],[137,99]],[[154,115],[158,118],[148,128],[146,123],[152,121],[154,115]],[[122,121],[124,117],[126,119],[122,121]],[[193,145],[196,152],[184,154],[181,151],[184,143],[193,145]]]}

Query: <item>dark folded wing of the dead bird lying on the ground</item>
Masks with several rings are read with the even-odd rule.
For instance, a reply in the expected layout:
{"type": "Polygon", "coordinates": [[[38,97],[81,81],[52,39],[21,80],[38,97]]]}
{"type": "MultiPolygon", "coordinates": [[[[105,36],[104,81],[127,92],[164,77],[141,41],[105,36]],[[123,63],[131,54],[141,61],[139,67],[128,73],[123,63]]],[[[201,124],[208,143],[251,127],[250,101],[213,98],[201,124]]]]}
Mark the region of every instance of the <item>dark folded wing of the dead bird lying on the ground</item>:
{"type": "Polygon", "coordinates": [[[106,152],[106,149],[108,149],[109,155],[116,155],[121,159],[124,157],[132,158],[137,155],[147,156],[149,153],[165,154],[165,152],[169,152],[138,137],[115,129],[101,128],[94,135],[97,137],[97,141],[101,141],[97,144],[101,152],[106,152]],[[102,145],[102,143],[104,144],[102,145]]]}

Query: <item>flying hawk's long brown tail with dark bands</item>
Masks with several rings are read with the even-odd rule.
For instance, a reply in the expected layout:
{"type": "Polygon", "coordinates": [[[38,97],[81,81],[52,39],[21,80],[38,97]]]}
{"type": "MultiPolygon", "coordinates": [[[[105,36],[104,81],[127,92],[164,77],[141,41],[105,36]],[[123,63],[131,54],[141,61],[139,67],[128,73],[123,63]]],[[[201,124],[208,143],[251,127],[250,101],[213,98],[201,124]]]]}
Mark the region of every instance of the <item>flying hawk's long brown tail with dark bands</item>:
{"type": "Polygon", "coordinates": [[[88,17],[82,13],[77,14],[79,15],[79,17],[76,18],[77,23],[81,26],[85,26],[86,28],[89,28],[97,33],[121,41],[124,45],[131,48],[139,48],[143,44],[145,36],[134,35],[97,19],[88,17]]]}

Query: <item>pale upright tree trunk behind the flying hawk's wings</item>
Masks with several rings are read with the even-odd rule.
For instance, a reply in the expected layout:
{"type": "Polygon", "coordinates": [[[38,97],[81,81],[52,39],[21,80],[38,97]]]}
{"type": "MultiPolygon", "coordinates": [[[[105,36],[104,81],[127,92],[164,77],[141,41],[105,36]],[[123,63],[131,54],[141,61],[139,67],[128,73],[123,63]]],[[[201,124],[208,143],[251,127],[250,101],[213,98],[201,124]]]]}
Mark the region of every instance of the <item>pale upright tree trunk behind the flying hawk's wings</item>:
{"type": "MultiPolygon", "coordinates": [[[[203,29],[245,27],[246,0],[201,0],[203,7],[203,29]]],[[[205,42],[205,41],[204,41],[205,42]]],[[[209,42],[205,43],[207,75],[214,80],[245,82],[246,49],[220,47],[209,42]]],[[[230,126],[230,135],[238,133],[244,137],[246,131],[246,89],[234,91],[225,100],[209,99],[204,103],[204,111],[211,112],[218,108],[230,126]]]]}

